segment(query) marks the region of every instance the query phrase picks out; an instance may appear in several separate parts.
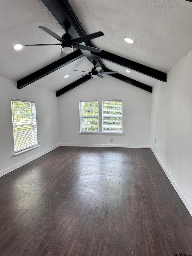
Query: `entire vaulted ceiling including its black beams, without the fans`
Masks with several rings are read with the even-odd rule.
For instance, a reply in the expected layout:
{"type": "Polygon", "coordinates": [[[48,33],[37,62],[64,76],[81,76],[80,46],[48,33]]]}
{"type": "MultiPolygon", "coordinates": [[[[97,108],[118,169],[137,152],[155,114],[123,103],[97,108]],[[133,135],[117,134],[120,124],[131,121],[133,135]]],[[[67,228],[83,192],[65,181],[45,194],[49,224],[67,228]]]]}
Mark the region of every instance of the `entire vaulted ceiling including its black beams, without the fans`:
{"type": "Polygon", "coordinates": [[[83,73],[73,69],[91,71],[95,58],[104,71],[119,71],[113,77],[152,92],[152,86],[158,80],[165,82],[165,73],[192,50],[190,2],[1,0],[0,75],[18,81],[18,88],[30,84],[53,90],[59,96],[91,78],[79,77],[83,73]],[[45,26],[62,36],[65,20],[72,24],[69,32],[73,38],[102,31],[104,36],[85,44],[103,51],[77,50],[60,57],[60,46],[13,49],[18,43],[58,43],[38,26],[45,26]],[[132,38],[135,43],[126,43],[125,37],[132,38]],[[66,74],[69,77],[64,78],[66,74]]]}

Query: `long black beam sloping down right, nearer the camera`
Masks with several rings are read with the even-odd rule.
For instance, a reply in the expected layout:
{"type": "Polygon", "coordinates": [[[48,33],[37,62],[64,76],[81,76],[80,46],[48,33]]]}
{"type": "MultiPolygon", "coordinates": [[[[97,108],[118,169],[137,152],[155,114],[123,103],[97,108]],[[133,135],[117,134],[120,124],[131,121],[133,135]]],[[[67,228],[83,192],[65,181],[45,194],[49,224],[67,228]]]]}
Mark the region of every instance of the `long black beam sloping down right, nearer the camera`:
{"type": "Polygon", "coordinates": [[[97,56],[101,59],[113,62],[117,65],[121,65],[122,67],[132,69],[132,70],[137,71],[137,72],[139,72],[141,74],[144,74],[146,76],[153,77],[157,80],[167,82],[167,74],[162,72],[162,71],[159,71],[157,69],[147,67],[143,64],[134,62],[134,61],[129,60],[129,59],[125,59],[123,57],[120,57],[120,56],[115,55],[113,53],[109,53],[109,52],[104,51],[104,50],[102,50],[100,53],[94,53],[94,52],[91,52],[91,53],[92,53],[93,56],[97,56]]]}

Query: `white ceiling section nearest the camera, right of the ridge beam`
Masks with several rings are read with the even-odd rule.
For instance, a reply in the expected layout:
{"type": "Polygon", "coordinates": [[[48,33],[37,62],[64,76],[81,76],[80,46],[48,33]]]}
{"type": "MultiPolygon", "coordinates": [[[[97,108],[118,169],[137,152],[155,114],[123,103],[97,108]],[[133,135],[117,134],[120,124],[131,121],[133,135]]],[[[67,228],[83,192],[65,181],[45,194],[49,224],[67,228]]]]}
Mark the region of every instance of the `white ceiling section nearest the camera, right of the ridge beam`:
{"type": "Polygon", "coordinates": [[[101,49],[163,72],[192,50],[192,3],[184,0],[70,0],[101,49]],[[124,38],[135,41],[128,44],[124,38]]]}

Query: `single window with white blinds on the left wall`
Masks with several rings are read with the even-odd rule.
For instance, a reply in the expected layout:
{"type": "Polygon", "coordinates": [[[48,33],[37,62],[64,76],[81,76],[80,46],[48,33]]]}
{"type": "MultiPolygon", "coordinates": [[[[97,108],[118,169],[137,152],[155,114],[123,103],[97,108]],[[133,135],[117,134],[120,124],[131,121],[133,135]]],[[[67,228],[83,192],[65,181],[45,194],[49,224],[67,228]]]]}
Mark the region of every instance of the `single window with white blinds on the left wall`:
{"type": "Polygon", "coordinates": [[[38,145],[34,101],[11,99],[14,151],[38,145]]]}

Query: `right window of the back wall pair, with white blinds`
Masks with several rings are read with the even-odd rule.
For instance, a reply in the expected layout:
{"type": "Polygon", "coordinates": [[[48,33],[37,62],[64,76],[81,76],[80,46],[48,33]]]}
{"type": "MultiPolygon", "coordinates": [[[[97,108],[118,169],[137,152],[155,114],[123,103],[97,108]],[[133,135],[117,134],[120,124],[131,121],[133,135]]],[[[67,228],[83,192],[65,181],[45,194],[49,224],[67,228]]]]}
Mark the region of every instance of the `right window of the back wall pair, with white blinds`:
{"type": "Polygon", "coordinates": [[[103,100],[103,132],[123,132],[122,100],[103,100]]]}

